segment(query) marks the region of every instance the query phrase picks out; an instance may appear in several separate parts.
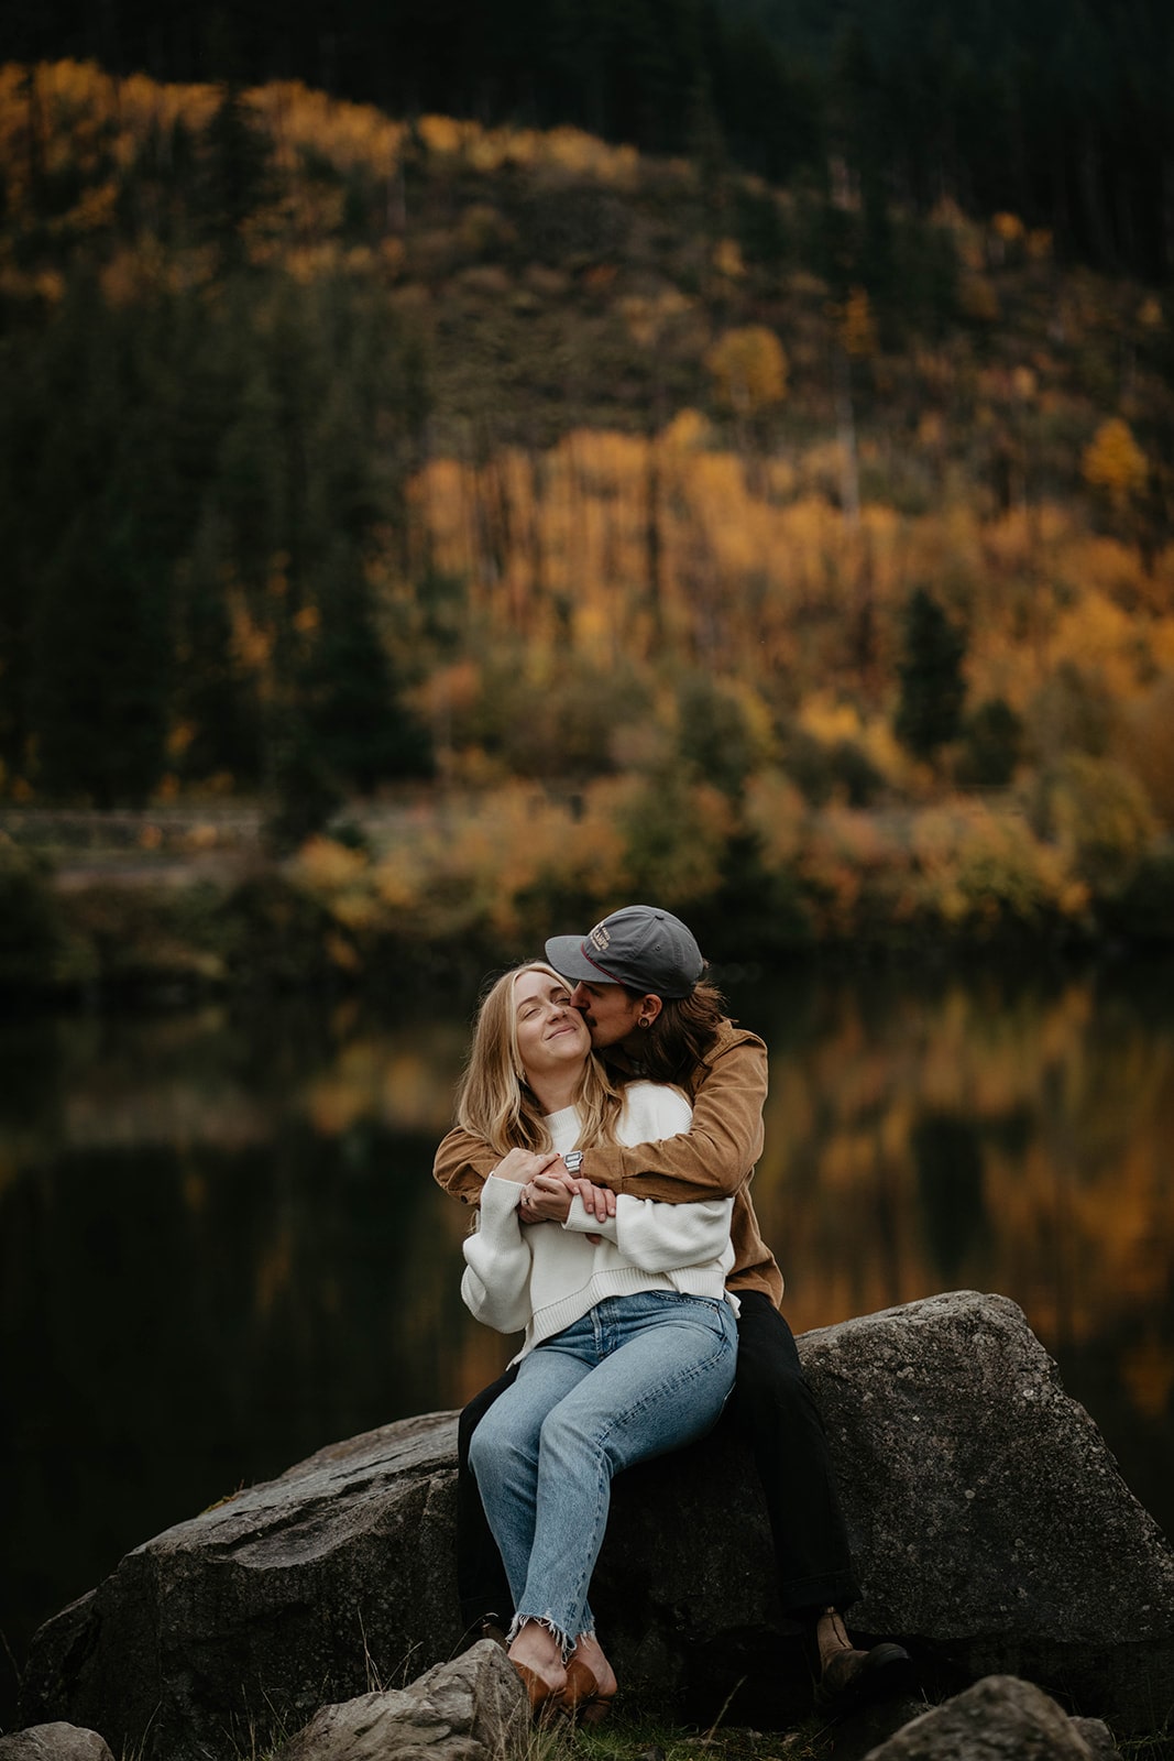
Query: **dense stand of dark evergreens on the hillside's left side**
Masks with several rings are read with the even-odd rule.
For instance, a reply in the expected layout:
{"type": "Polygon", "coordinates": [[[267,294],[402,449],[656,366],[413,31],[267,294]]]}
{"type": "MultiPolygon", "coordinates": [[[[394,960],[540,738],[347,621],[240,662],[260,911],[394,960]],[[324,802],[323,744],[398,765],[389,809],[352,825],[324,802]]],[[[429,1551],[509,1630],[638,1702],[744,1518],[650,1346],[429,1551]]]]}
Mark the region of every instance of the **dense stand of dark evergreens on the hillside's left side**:
{"type": "Polygon", "coordinates": [[[2,366],[7,763],[97,807],[167,768],[245,791],[426,770],[363,571],[401,521],[407,375],[345,280],[125,303],[70,276],[2,366]]]}

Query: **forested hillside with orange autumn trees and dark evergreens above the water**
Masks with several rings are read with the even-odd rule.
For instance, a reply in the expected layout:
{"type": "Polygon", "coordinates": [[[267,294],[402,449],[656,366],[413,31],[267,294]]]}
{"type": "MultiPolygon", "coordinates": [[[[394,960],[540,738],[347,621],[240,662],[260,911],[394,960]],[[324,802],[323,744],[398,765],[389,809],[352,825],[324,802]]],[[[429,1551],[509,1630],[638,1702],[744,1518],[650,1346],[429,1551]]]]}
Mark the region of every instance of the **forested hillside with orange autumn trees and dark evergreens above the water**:
{"type": "MultiPolygon", "coordinates": [[[[817,933],[1165,873],[1163,287],[864,157],[72,62],[4,70],[0,134],[9,803],[262,796],[296,844],[429,778],[498,791],[461,909],[577,851],[584,909],[753,870],[817,933]]],[[[350,930],[449,923],[437,851],[319,858],[350,930]]]]}

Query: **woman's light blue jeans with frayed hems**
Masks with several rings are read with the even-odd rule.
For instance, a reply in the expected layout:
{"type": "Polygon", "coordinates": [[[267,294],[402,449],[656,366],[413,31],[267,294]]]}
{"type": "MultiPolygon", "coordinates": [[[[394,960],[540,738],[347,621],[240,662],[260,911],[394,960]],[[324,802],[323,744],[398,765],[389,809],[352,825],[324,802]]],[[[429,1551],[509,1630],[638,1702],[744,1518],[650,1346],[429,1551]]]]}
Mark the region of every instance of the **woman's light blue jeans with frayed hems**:
{"type": "Polygon", "coordinates": [[[729,1303],[642,1291],[609,1296],[523,1358],[468,1456],[505,1564],[514,1629],[539,1620],[563,1654],[595,1631],[588,1588],[613,1476],[702,1437],[730,1391],[736,1356],[729,1303]]]}

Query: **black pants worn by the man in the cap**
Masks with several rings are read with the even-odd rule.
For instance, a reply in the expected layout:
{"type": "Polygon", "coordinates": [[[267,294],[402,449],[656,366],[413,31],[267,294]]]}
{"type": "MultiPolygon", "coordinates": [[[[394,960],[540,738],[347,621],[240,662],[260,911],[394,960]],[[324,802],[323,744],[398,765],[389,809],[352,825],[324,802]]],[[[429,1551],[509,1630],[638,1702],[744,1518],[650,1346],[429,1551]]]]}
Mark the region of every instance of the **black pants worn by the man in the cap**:
{"type": "MultiPolygon", "coordinates": [[[[745,1439],[759,1469],[783,1611],[804,1617],[818,1608],[848,1608],[861,1592],[852,1574],[824,1421],[803,1375],[794,1333],[769,1296],[746,1291],[739,1301],[737,1374],[720,1423],[732,1425],[745,1439]]],[[[468,1469],[468,1444],[516,1375],[516,1368],[507,1370],[482,1388],[458,1426],[456,1583],[466,1629],[489,1618],[505,1627],[512,1617],[502,1555],[468,1469]]]]}

